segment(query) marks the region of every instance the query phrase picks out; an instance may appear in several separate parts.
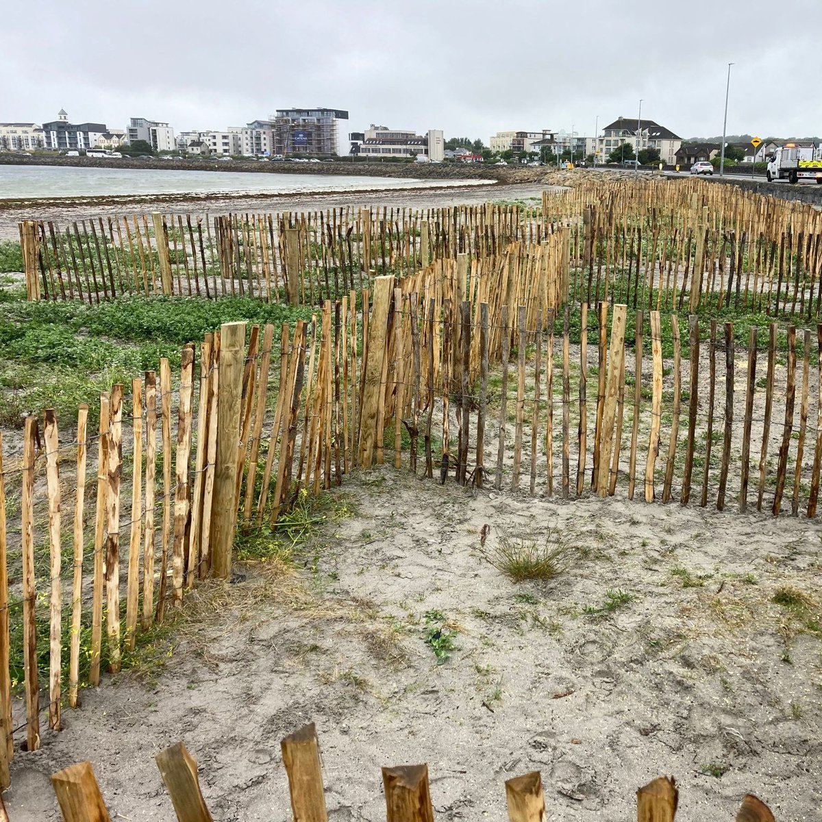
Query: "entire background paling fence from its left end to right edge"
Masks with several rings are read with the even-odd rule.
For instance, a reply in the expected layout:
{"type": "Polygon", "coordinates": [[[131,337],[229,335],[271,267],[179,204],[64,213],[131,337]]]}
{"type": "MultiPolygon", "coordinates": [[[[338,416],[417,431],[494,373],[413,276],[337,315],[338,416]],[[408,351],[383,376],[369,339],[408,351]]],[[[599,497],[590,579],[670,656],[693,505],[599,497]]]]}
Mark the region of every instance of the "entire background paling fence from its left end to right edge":
{"type": "Polygon", "coordinates": [[[766,312],[810,321],[822,308],[822,214],[704,180],[586,178],[542,207],[486,203],[302,214],[125,216],[20,224],[30,299],[99,302],[127,293],[247,294],[320,307],[379,275],[430,261],[530,259],[561,233],[572,305],[697,313],[766,312]]]}

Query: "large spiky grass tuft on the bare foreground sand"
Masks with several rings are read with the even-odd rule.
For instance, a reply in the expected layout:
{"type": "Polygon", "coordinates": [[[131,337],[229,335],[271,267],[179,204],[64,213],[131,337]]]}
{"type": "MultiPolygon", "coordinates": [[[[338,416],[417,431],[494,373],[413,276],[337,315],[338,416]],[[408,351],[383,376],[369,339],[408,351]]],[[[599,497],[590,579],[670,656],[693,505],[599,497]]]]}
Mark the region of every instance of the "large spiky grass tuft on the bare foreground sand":
{"type": "Polygon", "coordinates": [[[483,547],[483,559],[514,582],[552,580],[580,559],[580,549],[556,526],[548,529],[542,543],[533,531],[502,536],[483,547]]]}

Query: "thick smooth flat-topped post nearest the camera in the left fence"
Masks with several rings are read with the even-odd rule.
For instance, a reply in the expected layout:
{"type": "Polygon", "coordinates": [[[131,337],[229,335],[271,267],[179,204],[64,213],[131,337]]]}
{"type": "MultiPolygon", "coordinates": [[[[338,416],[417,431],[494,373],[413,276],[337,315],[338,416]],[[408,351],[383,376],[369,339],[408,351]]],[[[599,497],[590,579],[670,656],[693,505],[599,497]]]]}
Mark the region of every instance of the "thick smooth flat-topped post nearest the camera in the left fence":
{"type": "Polygon", "coordinates": [[[231,547],[234,538],[234,483],[237,475],[237,443],[240,432],[242,370],[246,344],[244,322],[225,323],[219,340],[219,395],[217,399],[217,459],[214,498],[218,500],[211,516],[211,569],[216,577],[228,579],[231,573],[231,547]]]}

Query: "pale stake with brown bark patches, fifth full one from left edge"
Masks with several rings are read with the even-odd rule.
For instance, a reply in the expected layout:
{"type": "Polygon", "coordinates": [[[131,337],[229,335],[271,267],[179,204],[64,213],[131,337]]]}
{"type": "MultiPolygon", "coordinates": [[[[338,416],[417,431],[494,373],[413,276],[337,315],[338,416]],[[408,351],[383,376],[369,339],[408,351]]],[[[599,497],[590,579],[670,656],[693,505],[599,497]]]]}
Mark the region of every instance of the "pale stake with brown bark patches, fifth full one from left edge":
{"type": "Polygon", "coordinates": [[[106,635],[109,672],[120,670],[120,481],[122,478],[122,385],[111,389],[106,494],[106,635]]]}

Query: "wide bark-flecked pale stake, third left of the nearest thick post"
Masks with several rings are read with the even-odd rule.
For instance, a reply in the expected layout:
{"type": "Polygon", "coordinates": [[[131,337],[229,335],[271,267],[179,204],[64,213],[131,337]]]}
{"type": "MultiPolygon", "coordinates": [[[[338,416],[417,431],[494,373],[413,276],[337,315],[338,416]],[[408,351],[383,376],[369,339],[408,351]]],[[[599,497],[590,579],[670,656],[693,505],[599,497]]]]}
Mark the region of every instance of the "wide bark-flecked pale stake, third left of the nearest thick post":
{"type": "MultiPolygon", "coordinates": [[[[188,485],[188,462],[192,451],[192,398],[194,349],[187,345],[180,358],[180,402],[177,420],[177,453],[174,463],[174,541],[172,556],[172,605],[182,603],[185,581],[186,524],[191,503],[188,485]]],[[[233,510],[232,510],[233,512],[233,510]]]]}

